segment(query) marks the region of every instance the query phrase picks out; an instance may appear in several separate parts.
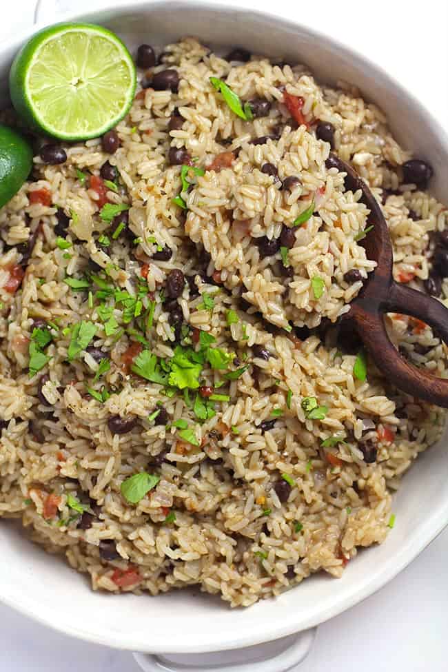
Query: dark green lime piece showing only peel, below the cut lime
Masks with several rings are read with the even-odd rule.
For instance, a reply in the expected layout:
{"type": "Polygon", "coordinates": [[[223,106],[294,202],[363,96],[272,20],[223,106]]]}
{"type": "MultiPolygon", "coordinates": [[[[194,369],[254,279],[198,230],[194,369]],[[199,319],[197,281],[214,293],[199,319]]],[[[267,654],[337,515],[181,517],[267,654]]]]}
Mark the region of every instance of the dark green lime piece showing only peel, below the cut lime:
{"type": "Polygon", "coordinates": [[[32,149],[9,126],[0,125],[0,207],[17,194],[32,168],[32,149]]]}

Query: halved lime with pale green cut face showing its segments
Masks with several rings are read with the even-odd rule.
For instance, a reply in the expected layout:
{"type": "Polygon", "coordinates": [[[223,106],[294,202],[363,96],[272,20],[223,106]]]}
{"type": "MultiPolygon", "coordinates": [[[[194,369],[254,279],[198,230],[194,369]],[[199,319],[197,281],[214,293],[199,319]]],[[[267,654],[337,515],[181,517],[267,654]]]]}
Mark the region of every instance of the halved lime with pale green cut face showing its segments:
{"type": "Polygon", "coordinates": [[[12,104],[31,128],[60,140],[102,135],[134,99],[136,69],[113,32],[57,23],[21,48],[10,70],[12,104]]]}

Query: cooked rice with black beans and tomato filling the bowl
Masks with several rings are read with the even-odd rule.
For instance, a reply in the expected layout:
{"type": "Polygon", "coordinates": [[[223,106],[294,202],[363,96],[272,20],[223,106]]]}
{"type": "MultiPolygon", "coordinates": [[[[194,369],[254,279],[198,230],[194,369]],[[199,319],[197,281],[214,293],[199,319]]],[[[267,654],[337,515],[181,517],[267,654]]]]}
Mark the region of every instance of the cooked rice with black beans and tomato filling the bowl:
{"type": "MultiPolygon", "coordinates": [[[[429,232],[446,227],[448,211],[415,185],[403,185],[401,165],[409,153],[394,141],[382,112],[354,88],[341,83],[330,89],[303,66],[273,65],[260,57],[230,64],[194,39],[170,45],[164,59],[154,70],[174,65],[179,94],[151,88],[137,94],[117,128],[116,154],[105,154],[101,141],[92,140],[68,147],[63,165],[43,165],[36,156],[32,181],[0,210],[0,516],[20,519],[45,550],[63,554],[72,567],[90,574],[94,589],[154,595],[195,584],[234,607],[248,606],[316,571],[339,577],[358,547],[383,542],[392,493],[418,454],[438,439],[445,421],[441,409],[400,393],[371,361],[367,380],[358,380],[356,354],[340,348],[338,327],[329,323],[348,311],[362,286],[347,284],[344,274],[358,269],[365,278],[374,263],[355,240],[367,215],[360,193],[345,192],[343,176],[325,167],[329,145],[316,139],[314,121],[334,125],[340,158],[352,162],[378,201],[384,198],[396,279],[411,276],[409,284],[421,289],[433,245],[429,232]],[[243,100],[272,101],[269,116],[250,123],[238,119],[208,82],[210,76],[225,77],[243,100]],[[282,87],[305,100],[308,129],[292,127],[282,87]],[[185,121],[169,132],[176,109],[185,121]],[[279,139],[250,144],[278,128],[279,139]],[[232,167],[195,178],[195,187],[184,194],[186,217],[172,203],[181,190],[181,169],[167,164],[170,146],[185,146],[203,167],[221,152],[236,156],[232,167]],[[114,227],[99,218],[98,196],[88,178],[81,183],[77,170],[98,175],[106,160],[121,176],[119,193],[109,191],[108,200],[131,205],[132,235],[121,234],[102,247],[99,234],[111,238],[114,227]],[[281,190],[261,172],[265,162],[277,167],[280,179],[299,176],[301,185],[281,190]],[[50,192],[52,205],[30,203],[30,194],[42,189],[50,192]],[[256,238],[278,237],[283,223],[292,225],[312,198],[316,210],[298,227],[289,251],[294,274],[285,281],[280,254],[261,258],[256,238]],[[57,207],[71,217],[69,250],[56,245],[57,207]],[[10,270],[21,263],[21,245],[35,232],[21,289],[10,293],[5,289],[10,270]],[[138,245],[134,237],[141,239],[138,245]],[[173,253],[170,261],[154,261],[157,246],[165,245],[173,253]],[[130,327],[136,325],[124,325],[118,339],[107,336],[99,302],[89,307],[85,292],[63,283],[65,276],[81,278],[89,260],[105,269],[108,282],[133,295],[141,264],[149,267],[143,311],[152,300],[156,305],[154,326],[144,336],[163,358],[172,357],[176,345],[161,296],[167,273],[179,268],[196,276],[199,296],[185,284],[179,299],[185,324],[209,332],[214,346],[232,352],[239,360],[232,370],[249,365],[222,387],[223,371],[203,369],[201,384],[230,396],[216,403],[213,418],[198,422],[183,394],[167,396],[161,385],[125,370],[123,354],[135,341],[130,327]],[[320,298],[312,289],[314,276],[323,281],[320,298]],[[213,298],[212,308],[204,294],[213,298]],[[238,323],[227,324],[230,309],[238,323]],[[59,331],[45,351],[48,365],[30,377],[28,347],[37,319],[57,323],[59,331]],[[110,353],[110,371],[96,381],[98,363],[88,352],[67,362],[70,327],[80,320],[94,322],[91,345],[110,353]],[[300,329],[303,325],[311,330],[300,329]],[[256,357],[254,345],[272,356],[256,357]],[[46,405],[37,396],[43,374],[50,377],[39,395],[46,405]],[[86,387],[99,394],[103,385],[115,394],[101,403],[86,387]],[[323,419],[305,417],[305,397],[327,406],[323,419]],[[148,420],[159,402],[171,427],[148,420]],[[275,409],[282,414],[276,416],[275,409]],[[108,418],[116,415],[136,417],[138,423],[126,434],[112,434],[108,418]],[[172,427],[179,418],[194,427],[198,447],[179,440],[172,427]],[[263,431],[261,423],[271,420],[272,429],[263,431]],[[345,442],[323,448],[332,435],[344,435],[345,442]],[[366,445],[378,451],[371,464],[365,462],[366,445]],[[165,450],[161,465],[152,466],[165,450]],[[121,484],[139,471],[161,480],[131,505],[121,484]],[[274,489],[282,474],[293,483],[283,503],[274,489]],[[57,496],[53,516],[51,495],[57,496]],[[90,529],[79,526],[69,495],[94,506],[90,529]],[[176,518],[169,522],[173,512],[176,518]],[[105,560],[104,553],[101,558],[104,540],[115,542],[119,559],[105,560]]],[[[121,325],[123,307],[115,306],[113,314],[121,325]]],[[[387,328],[414,363],[447,376],[445,345],[429,327],[394,315],[387,317],[387,328]]],[[[192,332],[184,329],[182,335],[188,339],[192,332]]]]}

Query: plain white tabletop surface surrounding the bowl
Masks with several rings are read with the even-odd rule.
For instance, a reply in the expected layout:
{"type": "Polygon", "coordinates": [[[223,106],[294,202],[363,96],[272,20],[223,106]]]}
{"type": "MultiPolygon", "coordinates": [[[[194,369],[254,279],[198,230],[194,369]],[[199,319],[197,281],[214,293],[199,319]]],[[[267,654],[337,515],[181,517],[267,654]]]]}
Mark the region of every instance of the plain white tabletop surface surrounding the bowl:
{"type": "MultiPolygon", "coordinates": [[[[1,43],[32,23],[34,0],[0,4],[1,43]]],[[[448,131],[445,0],[241,0],[241,4],[296,19],[349,43],[407,85],[448,131]]],[[[81,11],[94,7],[94,0],[60,0],[60,5],[81,11]]],[[[387,587],[321,626],[300,671],[445,672],[447,607],[448,530],[387,587]]],[[[63,608],[70,609],[70,604],[63,608]]],[[[127,652],[77,642],[1,605],[0,643],[1,672],[139,670],[127,652]]]]}

